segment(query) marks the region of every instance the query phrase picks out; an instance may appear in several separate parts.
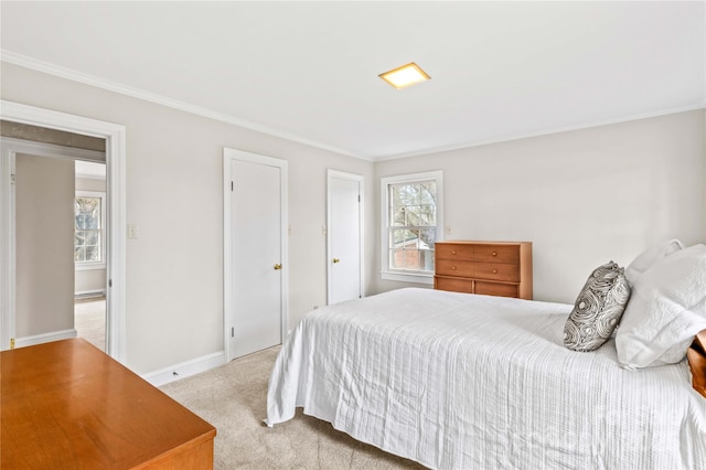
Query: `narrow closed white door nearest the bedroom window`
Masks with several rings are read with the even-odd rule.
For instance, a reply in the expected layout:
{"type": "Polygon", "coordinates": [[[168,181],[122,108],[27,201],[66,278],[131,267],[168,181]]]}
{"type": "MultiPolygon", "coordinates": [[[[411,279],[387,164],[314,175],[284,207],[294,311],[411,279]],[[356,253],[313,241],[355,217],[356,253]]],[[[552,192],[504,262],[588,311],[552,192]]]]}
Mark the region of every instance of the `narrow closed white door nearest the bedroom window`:
{"type": "Polygon", "coordinates": [[[363,177],[329,170],[328,303],[363,296],[363,177]]]}

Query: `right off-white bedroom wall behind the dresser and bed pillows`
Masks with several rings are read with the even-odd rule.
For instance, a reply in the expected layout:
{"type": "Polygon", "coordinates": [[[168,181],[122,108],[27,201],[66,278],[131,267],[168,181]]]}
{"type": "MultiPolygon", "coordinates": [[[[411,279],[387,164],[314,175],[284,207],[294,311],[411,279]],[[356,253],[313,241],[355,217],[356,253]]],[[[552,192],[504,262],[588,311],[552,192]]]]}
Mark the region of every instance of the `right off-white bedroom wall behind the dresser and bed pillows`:
{"type": "MultiPolygon", "coordinates": [[[[443,170],[446,238],[533,242],[535,299],[574,303],[600,264],[624,266],[663,239],[706,242],[705,115],[384,161],[375,173],[443,170]]],[[[376,291],[408,286],[376,279],[376,291]]]]}

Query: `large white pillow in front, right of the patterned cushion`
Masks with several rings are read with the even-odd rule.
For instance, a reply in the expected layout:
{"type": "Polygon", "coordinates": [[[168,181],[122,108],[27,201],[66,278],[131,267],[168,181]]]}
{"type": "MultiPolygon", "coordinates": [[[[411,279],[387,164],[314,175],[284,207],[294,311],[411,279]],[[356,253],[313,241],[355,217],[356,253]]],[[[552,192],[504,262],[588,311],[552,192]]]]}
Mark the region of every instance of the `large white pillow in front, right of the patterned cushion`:
{"type": "Polygon", "coordinates": [[[635,280],[616,333],[625,368],[673,364],[706,329],[706,245],[681,249],[635,280]]]}

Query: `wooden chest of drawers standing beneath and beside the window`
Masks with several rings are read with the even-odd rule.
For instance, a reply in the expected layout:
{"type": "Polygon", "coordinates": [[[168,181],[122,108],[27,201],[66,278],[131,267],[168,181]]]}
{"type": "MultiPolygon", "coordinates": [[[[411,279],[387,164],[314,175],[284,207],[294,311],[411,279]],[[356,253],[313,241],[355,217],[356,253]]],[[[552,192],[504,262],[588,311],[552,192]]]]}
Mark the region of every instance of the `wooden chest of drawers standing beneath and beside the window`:
{"type": "Polygon", "coordinates": [[[434,288],[532,299],[532,242],[437,242],[434,288]]]}

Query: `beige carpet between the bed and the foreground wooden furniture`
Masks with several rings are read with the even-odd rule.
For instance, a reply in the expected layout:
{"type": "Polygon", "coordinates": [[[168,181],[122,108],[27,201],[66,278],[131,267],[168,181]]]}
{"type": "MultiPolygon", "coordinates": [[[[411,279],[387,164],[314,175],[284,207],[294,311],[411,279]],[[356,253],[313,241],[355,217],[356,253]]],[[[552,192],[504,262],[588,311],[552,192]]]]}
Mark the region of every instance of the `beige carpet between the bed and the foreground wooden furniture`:
{"type": "Polygon", "coordinates": [[[214,468],[422,468],[359,442],[301,410],[287,423],[265,426],[267,381],[278,352],[279,346],[265,350],[161,387],[216,427],[214,468]]]}

